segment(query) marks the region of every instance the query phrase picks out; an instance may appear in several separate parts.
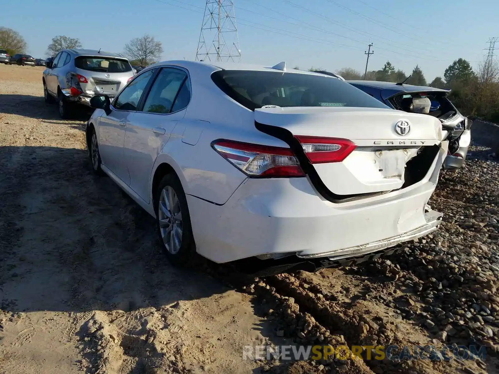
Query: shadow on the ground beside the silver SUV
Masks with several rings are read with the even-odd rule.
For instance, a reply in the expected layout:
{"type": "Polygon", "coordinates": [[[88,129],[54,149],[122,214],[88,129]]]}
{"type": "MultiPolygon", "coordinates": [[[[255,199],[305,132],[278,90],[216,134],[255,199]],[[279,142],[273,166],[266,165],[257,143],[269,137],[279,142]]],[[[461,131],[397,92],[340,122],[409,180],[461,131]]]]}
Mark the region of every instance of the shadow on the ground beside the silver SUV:
{"type": "MultiPolygon", "coordinates": [[[[74,109],[71,120],[76,121],[88,120],[93,112],[93,109],[82,105],[75,106],[74,109]]],[[[62,121],[57,111],[57,105],[45,103],[43,96],[0,94],[0,114],[2,113],[45,121],[62,121]]]]}

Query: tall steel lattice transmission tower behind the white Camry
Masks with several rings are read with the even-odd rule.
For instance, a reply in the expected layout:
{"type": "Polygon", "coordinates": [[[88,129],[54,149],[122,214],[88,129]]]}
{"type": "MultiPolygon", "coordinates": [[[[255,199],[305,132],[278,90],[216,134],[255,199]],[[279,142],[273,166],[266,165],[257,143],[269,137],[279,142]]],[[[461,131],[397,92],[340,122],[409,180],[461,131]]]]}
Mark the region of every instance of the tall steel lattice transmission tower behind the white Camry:
{"type": "Polygon", "coordinates": [[[232,0],[207,0],[196,61],[241,61],[232,0]]]}

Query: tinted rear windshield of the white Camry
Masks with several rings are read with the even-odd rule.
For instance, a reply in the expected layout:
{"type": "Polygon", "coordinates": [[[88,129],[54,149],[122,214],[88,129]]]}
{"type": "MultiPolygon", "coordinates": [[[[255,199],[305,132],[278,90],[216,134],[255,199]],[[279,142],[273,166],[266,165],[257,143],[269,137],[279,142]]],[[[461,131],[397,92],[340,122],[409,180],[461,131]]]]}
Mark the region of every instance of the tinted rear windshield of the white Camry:
{"type": "Polygon", "coordinates": [[[279,107],[367,107],[385,104],[337,78],[282,71],[220,70],[215,84],[250,110],[279,107]]]}

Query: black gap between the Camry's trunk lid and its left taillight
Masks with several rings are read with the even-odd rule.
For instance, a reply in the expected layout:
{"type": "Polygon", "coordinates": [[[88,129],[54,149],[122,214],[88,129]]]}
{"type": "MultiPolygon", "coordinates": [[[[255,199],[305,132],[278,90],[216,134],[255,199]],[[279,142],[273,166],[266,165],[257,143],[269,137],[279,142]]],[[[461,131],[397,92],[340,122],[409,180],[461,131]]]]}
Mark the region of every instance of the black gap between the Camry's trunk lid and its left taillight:
{"type": "Polygon", "coordinates": [[[324,197],[326,200],[331,202],[346,202],[349,200],[361,198],[364,195],[373,196],[373,193],[338,195],[332,192],[331,190],[329,190],[329,188],[326,187],[324,182],[322,182],[317,171],[315,170],[313,165],[310,164],[310,161],[305,155],[305,152],[303,151],[303,147],[301,146],[300,142],[298,142],[298,140],[293,136],[293,134],[289,130],[286,130],[282,127],[265,125],[257,121],[254,121],[254,125],[257,130],[282,140],[289,146],[289,148],[291,148],[293,153],[298,158],[301,169],[305,172],[305,174],[308,175],[313,187],[315,187],[317,192],[319,192],[320,195],[324,197]]]}

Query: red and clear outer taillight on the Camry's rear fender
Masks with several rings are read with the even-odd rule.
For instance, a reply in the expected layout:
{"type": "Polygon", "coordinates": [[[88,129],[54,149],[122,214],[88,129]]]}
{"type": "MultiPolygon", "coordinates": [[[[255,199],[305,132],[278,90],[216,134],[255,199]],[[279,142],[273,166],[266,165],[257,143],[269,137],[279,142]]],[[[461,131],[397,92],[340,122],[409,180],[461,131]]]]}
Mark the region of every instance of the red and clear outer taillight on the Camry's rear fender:
{"type": "Polygon", "coordinates": [[[218,140],[212,147],[223,158],[250,177],[304,177],[298,159],[289,148],[218,140]]]}

